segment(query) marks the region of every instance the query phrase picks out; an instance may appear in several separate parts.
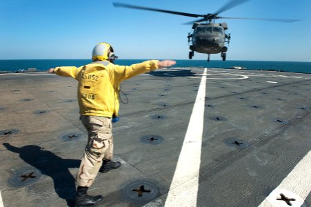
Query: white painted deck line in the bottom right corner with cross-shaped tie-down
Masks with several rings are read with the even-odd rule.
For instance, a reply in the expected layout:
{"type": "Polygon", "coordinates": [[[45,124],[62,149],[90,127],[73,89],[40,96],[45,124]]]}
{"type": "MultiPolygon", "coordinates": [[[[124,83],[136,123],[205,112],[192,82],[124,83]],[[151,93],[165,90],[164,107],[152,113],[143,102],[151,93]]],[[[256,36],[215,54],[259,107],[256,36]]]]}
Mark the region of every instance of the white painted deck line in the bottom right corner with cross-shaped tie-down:
{"type": "Polygon", "coordinates": [[[299,161],[292,172],[261,202],[259,207],[307,207],[308,204],[305,204],[304,200],[311,192],[310,177],[311,151],[299,161]],[[282,195],[285,199],[290,199],[291,205],[286,204],[284,199],[282,199],[282,195]]]}

